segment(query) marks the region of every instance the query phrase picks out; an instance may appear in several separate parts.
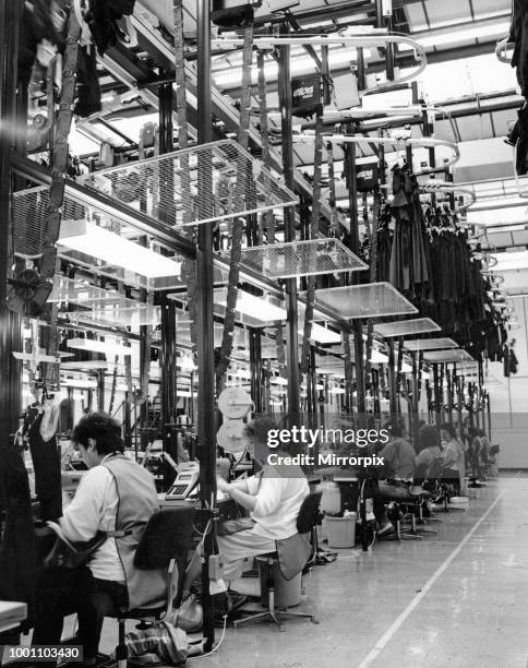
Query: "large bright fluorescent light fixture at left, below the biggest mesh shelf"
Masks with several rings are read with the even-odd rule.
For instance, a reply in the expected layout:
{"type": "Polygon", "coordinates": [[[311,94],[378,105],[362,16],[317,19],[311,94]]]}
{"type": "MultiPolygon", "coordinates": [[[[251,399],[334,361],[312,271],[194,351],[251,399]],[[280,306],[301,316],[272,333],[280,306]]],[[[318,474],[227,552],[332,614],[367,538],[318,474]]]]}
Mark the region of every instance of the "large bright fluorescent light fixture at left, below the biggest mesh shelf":
{"type": "Polygon", "coordinates": [[[89,220],[62,220],[58,243],[146,278],[180,275],[179,263],[89,220]]]}

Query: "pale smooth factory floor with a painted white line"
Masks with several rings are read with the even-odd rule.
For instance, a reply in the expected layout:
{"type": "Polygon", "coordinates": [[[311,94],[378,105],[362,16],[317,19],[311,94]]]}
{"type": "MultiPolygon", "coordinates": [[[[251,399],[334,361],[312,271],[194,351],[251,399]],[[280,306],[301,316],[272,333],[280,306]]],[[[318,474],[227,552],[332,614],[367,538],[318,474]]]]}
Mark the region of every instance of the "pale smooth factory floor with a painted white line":
{"type": "MultiPolygon", "coordinates": [[[[340,550],[317,566],[301,608],[319,624],[228,629],[216,654],[189,666],[526,668],[528,480],[518,474],[471,491],[466,513],[439,513],[436,537],[340,550]]],[[[107,620],[101,651],[116,637],[107,620]]]]}

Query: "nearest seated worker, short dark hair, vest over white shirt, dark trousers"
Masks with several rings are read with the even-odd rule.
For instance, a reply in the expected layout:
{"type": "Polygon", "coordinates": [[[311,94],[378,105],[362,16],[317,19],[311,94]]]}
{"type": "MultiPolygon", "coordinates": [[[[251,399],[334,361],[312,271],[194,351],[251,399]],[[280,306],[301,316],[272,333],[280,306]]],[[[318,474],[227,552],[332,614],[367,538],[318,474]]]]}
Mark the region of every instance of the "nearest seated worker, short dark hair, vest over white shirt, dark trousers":
{"type": "Polygon", "coordinates": [[[88,470],[60,518],[64,537],[87,542],[97,532],[124,532],[108,537],[86,565],[49,566],[36,593],[33,645],[57,645],[63,617],[76,612],[84,664],[96,663],[103,620],[120,609],[132,609],[164,598],[163,571],[137,571],[133,565],[143,530],[158,510],[153,476],[123,455],[121,428],[109,415],[93,413],[73,429],[88,470]]]}

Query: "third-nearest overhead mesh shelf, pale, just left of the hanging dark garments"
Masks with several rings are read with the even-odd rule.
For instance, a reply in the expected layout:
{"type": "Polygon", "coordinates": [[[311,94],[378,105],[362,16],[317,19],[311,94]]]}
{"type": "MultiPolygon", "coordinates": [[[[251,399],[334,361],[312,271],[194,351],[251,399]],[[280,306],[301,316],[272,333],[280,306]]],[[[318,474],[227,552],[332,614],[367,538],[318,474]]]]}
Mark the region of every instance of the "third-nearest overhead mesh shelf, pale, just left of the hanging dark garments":
{"type": "Polygon", "coordinates": [[[325,307],[344,319],[418,313],[418,309],[389,283],[316,290],[315,305],[325,307]]]}

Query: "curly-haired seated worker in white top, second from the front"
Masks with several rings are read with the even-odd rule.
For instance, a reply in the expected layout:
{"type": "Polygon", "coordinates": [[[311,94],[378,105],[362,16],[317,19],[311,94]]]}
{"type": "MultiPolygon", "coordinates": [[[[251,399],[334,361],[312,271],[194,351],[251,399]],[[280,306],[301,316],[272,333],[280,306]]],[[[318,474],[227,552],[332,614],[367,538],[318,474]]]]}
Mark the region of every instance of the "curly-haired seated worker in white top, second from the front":
{"type": "MultiPolygon", "coordinates": [[[[276,540],[297,534],[297,516],[310,491],[300,466],[272,466],[267,463],[271,453],[288,454],[287,444],[273,449],[267,445],[267,434],[276,428],[275,420],[261,417],[244,429],[244,439],[249,441],[245,446],[254,452],[260,474],[231,484],[221,477],[217,478],[218,490],[249,511],[254,523],[251,528],[217,537],[218,550],[224,560],[224,578],[228,586],[244,569],[251,566],[247,563],[248,559],[275,552],[276,540]]],[[[200,554],[196,552],[185,574],[182,600],[189,596],[191,584],[199,577],[201,569],[200,554]]]]}

